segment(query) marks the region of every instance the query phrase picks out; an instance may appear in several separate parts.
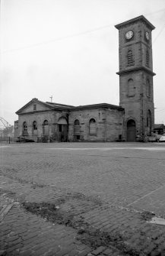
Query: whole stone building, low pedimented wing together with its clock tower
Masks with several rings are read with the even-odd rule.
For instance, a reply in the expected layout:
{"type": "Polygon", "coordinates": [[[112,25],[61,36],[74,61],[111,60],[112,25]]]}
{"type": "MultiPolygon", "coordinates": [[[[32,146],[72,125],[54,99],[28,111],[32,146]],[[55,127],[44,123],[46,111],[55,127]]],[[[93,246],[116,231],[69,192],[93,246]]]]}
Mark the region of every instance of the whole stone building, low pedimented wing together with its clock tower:
{"type": "Polygon", "coordinates": [[[34,141],[144,141],[154,130],[151,31],[143,15],[119,30],[119,106],[62,105],[32,99],[16,114],[15,134],[34,141]]]}

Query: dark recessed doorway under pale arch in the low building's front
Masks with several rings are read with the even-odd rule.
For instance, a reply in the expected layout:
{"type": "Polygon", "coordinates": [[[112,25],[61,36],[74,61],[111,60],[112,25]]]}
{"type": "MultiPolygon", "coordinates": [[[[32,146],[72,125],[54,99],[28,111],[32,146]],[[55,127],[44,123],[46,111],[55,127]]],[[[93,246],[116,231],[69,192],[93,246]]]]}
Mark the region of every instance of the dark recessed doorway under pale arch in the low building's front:
{"type": "Polygon", "coordinates": [[[59,141],[66,142],[68,141],[68,123],[66,118],[61,117],[58,121],[59,125],[59,141]]]}

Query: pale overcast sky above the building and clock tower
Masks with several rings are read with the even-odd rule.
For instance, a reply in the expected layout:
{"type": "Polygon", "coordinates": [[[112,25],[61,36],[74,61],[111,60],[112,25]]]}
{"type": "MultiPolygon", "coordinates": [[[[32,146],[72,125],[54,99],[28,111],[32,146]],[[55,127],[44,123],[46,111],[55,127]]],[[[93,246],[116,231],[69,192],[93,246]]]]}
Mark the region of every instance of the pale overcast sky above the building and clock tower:
{"type": "Polygon", "coordinates": [[[0,117],[13,125],[27,102],[51,96],[68,105],[119,105],[114,26],[139,15],[156,27],[155,123],[165,124],[164,0],[2,0],[0,117]]]}

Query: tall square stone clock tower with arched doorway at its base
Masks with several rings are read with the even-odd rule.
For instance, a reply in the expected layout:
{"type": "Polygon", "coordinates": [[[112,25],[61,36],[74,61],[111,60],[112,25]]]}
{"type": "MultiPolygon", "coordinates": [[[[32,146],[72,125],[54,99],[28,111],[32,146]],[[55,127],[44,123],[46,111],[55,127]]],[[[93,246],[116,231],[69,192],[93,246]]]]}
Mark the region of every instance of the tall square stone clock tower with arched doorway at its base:
{"type": "Polygon", "coordinates": [[[115,26],[119,30],[119,105],[125,109],[126,141],[145,141],[154,130],[151,32],[143,15],[115,26]]]}

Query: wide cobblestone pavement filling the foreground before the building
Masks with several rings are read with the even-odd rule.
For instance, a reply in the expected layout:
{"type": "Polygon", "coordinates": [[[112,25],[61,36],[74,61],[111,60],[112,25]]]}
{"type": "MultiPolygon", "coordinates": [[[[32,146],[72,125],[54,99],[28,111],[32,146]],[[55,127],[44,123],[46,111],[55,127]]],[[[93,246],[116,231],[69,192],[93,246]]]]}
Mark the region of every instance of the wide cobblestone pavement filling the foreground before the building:
{"type": "Polygon", "coordinates": [[[165,255],[165,144],[0,152],[0,255],[165,255]]]}

